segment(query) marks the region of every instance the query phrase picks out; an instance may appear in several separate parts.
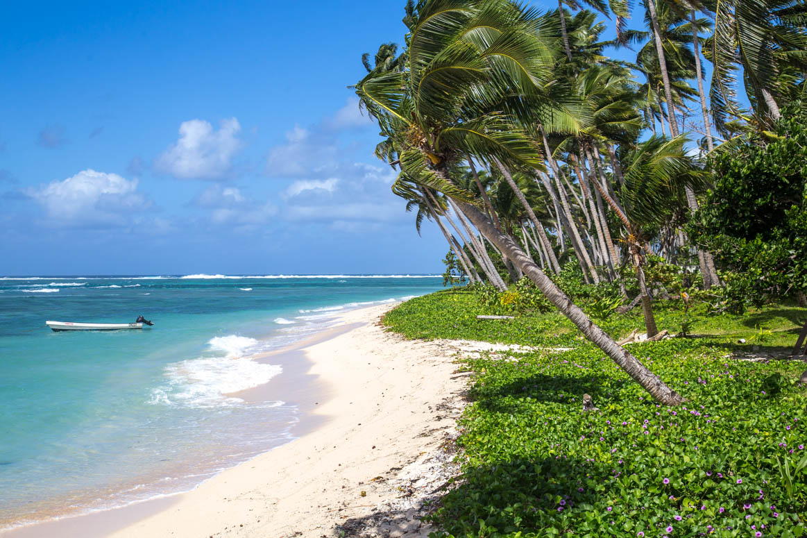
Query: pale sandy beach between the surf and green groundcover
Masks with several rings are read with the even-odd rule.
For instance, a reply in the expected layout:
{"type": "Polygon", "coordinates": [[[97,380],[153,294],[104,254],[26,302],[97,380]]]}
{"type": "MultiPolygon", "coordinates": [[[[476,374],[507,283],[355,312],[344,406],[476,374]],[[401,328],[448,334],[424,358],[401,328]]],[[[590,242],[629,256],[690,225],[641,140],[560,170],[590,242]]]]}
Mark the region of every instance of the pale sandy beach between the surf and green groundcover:
{"type": "Polygon", "coordinates": [[[296,396],[312,420],[298,439],[188,493],[10,535],[428,536],[422,504],[456,473],[467,380],[449,343],[383,330],[390,308],[345,313],[328,338],[299,348],[312,392],[296,396]]]}

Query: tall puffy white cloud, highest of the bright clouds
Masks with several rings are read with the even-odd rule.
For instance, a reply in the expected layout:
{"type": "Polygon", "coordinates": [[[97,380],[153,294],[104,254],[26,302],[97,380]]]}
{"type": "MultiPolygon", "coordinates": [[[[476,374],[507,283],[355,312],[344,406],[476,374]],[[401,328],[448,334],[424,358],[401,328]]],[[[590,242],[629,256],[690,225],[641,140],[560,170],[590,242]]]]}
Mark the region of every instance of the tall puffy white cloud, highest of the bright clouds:
{"type": "Polygon", "coordinates": [[[232,158],[243,147],[236,118],[221,120],[218,131],[204,120],[179,126],[179,139],[154,162],[157,170],[184,179],[222,179],[232,168],[232,158]]]}

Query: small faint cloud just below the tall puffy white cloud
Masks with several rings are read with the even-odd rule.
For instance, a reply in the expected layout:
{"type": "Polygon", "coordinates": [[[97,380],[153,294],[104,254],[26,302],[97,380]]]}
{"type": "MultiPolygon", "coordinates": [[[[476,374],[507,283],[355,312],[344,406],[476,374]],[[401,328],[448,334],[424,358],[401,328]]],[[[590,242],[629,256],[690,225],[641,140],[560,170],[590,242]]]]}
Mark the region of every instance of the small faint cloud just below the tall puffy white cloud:
{"type": "Polygon", "coordinates": [[[265,225],[278,212],[278,208],[269,200],[258,202],[237,187],[219,185],[203,191],[194,198],[191,205],[207,209],[214,225],[234,225],[247,229],[265,225]]]}

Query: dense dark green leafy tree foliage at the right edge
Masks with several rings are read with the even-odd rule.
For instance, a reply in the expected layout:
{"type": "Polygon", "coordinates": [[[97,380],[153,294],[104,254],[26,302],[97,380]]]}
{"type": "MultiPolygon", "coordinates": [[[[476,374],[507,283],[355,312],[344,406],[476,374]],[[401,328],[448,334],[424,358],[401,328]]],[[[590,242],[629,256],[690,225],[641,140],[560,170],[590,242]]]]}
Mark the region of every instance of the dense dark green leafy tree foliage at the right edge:
{"type": "Polygon", "coordinates": [[[757,305],[807,288],[807,113],[796,103],[774,132],[748,137],[714,159],[714,187],[694,233],[757,305]]]}

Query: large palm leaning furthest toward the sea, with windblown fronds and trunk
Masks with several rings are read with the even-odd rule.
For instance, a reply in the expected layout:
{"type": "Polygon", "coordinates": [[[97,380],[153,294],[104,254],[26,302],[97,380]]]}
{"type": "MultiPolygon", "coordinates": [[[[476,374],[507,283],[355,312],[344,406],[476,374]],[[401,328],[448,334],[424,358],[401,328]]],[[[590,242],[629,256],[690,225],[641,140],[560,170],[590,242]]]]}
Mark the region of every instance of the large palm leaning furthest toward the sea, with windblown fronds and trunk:
{"type": "Polygon", "coordinates": [[[402,174],[453,199],[587,338],[658,401],[679,404],[678,393],[596,326],[512,237],[496,228],[473,192],[451,179],[451,166],[468,154],[481,162],[543,168],[524,130],[504,113],[507,109],[495,107],[517,97],[547,115],[562,108],[554,106],[547,91],[562,50],[548,36],[548,21],[503,0],[425,0],[405,20],[405,69],[369,74],[356,85],[383,136],[396,133],[401,141],[402,174]]]}

